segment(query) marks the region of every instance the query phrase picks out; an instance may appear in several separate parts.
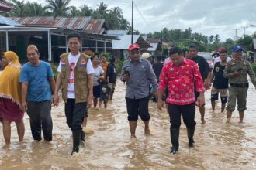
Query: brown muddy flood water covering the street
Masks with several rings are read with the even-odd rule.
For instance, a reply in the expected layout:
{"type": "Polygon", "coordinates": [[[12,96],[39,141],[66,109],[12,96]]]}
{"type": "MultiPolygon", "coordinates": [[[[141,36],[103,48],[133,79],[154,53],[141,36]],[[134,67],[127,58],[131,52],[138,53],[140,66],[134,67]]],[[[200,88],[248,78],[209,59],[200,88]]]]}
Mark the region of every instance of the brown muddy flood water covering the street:
{"type": "Polygon", "coordinates": [[[150,102],[151,136],[144,136],[144,124],[138,121],[137,140],[130,139],[126,119],[125,85],[118,82],[112,104],[104,110],[89,110],[86,144],[77,155],[70,156],[71,130],[64,116],[64,104],[53,107],[53,141],[33,141],[29,117],[24,118],[26,132],[19,143],[16,125],[12,123],[12,143],[5,144],[0,124],[0,169],[256,169],[256,90],[248,90],[244,124],[239,124],[235,111],[231,123],[210,107],[206,93],[206,124],[200,123],[196,113],[195,148],[188,147],[185,125],[182,123],[180,148],[177,155],[169,153],[171,146],[169,117],[166,110],[157,110],[150,102]]]}

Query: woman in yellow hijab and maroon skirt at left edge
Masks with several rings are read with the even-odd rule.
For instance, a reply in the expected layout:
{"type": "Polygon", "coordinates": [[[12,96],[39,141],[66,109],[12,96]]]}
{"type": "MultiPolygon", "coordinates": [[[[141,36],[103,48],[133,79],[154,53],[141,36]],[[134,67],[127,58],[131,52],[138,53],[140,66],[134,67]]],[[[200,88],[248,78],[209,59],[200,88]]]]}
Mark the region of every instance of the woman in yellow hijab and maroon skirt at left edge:
{"type": "Polygon", "coordinates": [[[16,122],[19,141],[23,140],[25,127],[22,112],[21,87],[19,84],[19,73],[21,65],[16,53],[8,51],[3,53],[2,62],[7,63],[0,74],[0,121],[3,124],[5,146],[9,147],[11,142],[11,123],[16,122]]]}

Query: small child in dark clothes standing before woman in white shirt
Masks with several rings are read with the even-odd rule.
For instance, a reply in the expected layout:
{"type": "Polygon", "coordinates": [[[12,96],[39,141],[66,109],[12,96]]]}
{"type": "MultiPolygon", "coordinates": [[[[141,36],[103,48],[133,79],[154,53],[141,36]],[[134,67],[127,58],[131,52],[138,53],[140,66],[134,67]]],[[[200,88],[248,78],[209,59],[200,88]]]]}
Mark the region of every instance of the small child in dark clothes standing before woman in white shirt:
{"type": "Polygon", "coordinates": [[[99,107],[101,109],[102,102],[104,102],[104,108],[107,108],[107,104],[109,101],[109,93],[111,92],[111,88],[108,85],[108,81],[106,79],[98,80],[100,85],[100,97],[99,97],[99,107]]]}

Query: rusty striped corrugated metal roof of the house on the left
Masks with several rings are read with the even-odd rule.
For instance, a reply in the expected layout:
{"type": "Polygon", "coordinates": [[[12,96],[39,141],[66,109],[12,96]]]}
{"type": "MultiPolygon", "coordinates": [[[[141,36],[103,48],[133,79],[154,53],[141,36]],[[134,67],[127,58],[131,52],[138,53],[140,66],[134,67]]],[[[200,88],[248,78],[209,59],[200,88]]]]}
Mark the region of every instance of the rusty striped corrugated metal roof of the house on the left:
{"type": "Polygon", "coordinates": [[[91,17],[14,17],[11,18],[25,26],[49,26],[66,29],[79,29],[84,30],[91,17]]]}

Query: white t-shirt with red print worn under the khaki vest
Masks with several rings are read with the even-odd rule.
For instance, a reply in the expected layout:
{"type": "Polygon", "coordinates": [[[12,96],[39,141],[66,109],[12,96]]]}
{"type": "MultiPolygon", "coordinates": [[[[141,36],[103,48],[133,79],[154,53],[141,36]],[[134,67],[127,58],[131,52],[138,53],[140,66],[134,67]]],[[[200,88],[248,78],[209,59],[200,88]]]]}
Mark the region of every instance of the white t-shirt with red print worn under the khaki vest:
{"type": "MultiPolygon", "coordinates": [[[[67,87],[67,98],[69,98],[69,99],[75,98],[75,95],[74,95],[74,68],[78,63],[79,56],[80,56],[80,53],[76,56],[71,55],[71,53],[69,53],[69,55],[68,55],[68,63],[71,68],[70,73],[69,73],[69,78],[68,78],[68,87],[67,87]]],[[[59,73],[61,73],[61,65],[62,64],[65,65],[66,63],[60,61],[60,64],[57,67],[57,71],[59,73]]],[[[86,70],[87,70],[87,74],[94,73],[91,59],[88,59],[88,62],[86,63],[86,70]]]]}

